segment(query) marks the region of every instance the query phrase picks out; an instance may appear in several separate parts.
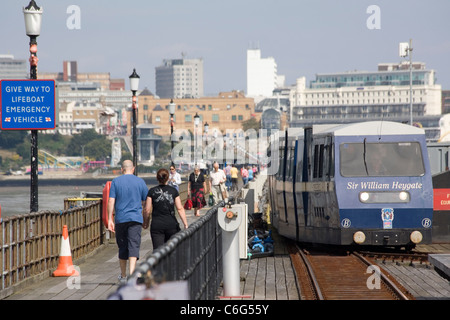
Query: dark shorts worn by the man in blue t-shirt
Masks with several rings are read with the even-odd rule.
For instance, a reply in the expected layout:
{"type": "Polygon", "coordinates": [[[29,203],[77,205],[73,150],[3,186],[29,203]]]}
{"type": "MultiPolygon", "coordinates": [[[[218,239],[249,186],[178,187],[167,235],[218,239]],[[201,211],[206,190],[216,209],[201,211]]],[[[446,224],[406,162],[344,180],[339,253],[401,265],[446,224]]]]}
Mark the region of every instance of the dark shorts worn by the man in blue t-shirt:
{"type": "Polygon", "coordinates": [[[129,257],[139,259],[142,223],[136,221],[118,223],[115,229],[116,242],[119,247],[119,259],[128,260],[129,257]]]}

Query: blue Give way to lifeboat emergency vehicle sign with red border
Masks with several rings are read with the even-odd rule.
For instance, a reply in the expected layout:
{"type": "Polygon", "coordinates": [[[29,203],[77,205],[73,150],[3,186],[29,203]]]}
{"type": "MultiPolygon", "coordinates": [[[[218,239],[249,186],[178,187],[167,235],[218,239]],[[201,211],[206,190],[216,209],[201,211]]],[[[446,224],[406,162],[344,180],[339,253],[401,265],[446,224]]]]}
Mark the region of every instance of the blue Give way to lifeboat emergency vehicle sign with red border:
{"type": "Polygon", "coordinates": [[[1,80],[2,130],[55,129],[54,80],[1,80]]]}

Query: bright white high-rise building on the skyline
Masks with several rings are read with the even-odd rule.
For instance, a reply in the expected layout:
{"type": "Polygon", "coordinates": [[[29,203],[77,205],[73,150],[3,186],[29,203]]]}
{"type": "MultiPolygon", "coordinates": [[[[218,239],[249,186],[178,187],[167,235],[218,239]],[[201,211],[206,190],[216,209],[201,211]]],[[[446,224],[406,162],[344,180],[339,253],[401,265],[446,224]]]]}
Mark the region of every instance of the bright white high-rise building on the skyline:
{"type": "Polygon", "coordinates": [[[277,88],[277,64],[272,57],[261,58],[260,49],[247,50],[247,96],[271,97],[277,88]]]}

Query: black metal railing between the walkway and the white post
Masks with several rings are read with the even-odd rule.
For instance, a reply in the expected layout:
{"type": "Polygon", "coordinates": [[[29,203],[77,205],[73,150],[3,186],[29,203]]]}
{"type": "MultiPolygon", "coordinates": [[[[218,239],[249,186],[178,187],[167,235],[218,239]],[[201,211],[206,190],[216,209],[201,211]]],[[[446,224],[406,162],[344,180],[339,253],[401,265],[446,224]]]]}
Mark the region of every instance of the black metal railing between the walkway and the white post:
{"type": "MultiPolygon", "coordinates": [[[[186,280],[189,297],[210,300],[222,281],[222,236],[217,209],[224,201],[156,249],[136,267],[129,283],[151,274],[155,282],[186,280]]],[[[120,289],[119,289],[120,290],[120,289]]]]}

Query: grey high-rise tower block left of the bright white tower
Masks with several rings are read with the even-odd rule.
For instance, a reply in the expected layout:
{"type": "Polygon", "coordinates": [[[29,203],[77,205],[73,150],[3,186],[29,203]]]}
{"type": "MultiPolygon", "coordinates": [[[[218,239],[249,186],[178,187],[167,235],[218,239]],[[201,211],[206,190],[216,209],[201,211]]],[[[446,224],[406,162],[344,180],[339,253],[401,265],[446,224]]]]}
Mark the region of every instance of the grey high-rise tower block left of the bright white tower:
{"type": "Polygon", "coordinates": [[[203,59],[163,60],[155,68],[156,95],[160,98],[203,96],[203,59]]]}

